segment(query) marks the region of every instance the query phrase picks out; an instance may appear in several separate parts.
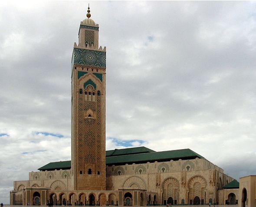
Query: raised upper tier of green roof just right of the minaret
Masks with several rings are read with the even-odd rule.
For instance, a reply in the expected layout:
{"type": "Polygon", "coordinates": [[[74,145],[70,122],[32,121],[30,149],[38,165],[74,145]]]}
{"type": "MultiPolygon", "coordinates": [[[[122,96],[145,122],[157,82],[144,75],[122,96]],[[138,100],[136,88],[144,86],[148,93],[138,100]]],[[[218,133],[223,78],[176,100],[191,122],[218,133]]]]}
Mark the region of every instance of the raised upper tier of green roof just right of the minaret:
{"type": "Polygon", "coordinates": [[[120,156],[120,155],[129,155],[129,154],[140,154],[140,153],[153,153],[154,150],[148,149],[144,146],[126,148],[126,149],[115,149],[115,150],[107,150],[106,157],[108,156],[120,156]]]}

